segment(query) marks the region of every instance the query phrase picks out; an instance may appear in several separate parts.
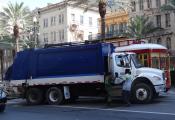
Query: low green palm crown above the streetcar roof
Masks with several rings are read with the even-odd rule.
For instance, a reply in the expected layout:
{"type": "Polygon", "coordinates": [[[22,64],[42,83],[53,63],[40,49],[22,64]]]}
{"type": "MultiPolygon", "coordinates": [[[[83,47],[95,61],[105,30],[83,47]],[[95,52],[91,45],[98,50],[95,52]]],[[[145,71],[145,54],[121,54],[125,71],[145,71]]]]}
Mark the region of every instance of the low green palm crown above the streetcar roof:
{"type": "Polygon", "coordinates": [[[160,30],[160,28],[155,27],[153,22],[149,20],[149,17],[136,16],[130,19],[126,36],[140,40],[146,38],[147,35],[156,32],[157,30],[160,30]]]}

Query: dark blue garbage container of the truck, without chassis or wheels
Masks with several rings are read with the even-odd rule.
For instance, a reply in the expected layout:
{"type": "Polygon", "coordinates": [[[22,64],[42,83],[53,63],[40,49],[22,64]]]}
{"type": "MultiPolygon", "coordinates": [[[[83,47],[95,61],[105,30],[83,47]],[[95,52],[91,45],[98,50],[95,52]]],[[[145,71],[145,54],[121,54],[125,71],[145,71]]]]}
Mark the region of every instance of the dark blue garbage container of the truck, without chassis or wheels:
{"type": "Polygon", "coordinates": [[[16,55],[5,80],[103,75],[109,49],[111,44],[96,43],[24,50],[16,55]]]}

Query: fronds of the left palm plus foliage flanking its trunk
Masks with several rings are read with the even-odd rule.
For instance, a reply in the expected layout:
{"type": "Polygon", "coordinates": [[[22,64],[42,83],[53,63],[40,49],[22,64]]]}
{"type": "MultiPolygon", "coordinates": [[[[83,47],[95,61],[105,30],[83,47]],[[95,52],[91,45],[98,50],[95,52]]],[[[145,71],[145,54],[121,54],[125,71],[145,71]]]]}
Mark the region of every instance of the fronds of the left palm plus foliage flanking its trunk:
{"type": "Polygon", "coordinates": [[[11,2],[7,7],[3,8],[0,18],[0,42],[15,46],[16,42],[13,36],[13,27],[18,25],[20,32],[19,45],[20,47],[28,47],[31,44],[27,38],[28,28],[33,24],[31,12],[28,7],[24,7],[24,3],[11,2]],[[21,39],[22,38],[22,39],[21,39]]]}

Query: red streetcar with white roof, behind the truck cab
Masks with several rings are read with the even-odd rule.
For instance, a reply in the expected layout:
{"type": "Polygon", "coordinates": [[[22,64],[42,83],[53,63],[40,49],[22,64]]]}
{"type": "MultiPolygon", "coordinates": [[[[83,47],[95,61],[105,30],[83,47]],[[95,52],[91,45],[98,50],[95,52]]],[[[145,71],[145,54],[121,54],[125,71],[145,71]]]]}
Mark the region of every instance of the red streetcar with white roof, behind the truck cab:
{"type": "Polygon", "coordinates": [[[125,40],[115,42],[116,52],[134,52],[145,67],[158,68],[165,71],[166,88],[171,87],[170,57],[166,47],[146,43],[144,40],[125,40]]]}

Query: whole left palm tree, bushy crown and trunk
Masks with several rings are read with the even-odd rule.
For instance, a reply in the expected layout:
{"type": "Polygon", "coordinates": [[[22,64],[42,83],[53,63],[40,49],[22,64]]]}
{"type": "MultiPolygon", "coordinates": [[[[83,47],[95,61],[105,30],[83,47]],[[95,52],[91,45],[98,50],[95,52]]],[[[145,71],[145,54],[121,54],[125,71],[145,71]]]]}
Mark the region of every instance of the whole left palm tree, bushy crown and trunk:
{"type": "Polygon", "coordinates": [[[32,24],[32,18],[28,7],[24,7],[24,3],[9,3],[3,8],[3,17],[0,19],[0,25],[5,21],[6,33],[14,36],[16,52],[19,51],[20,33],[25,31],[28,25],[32,24]]]}

